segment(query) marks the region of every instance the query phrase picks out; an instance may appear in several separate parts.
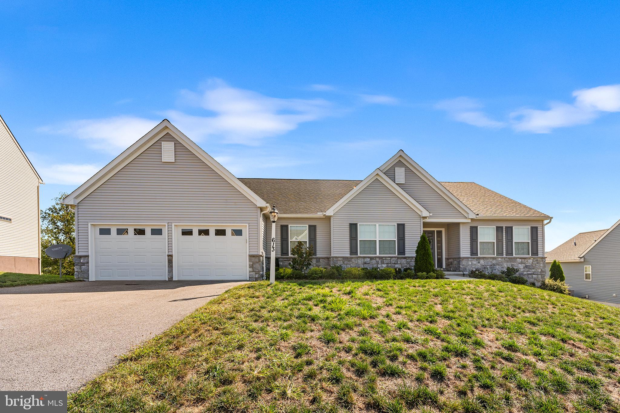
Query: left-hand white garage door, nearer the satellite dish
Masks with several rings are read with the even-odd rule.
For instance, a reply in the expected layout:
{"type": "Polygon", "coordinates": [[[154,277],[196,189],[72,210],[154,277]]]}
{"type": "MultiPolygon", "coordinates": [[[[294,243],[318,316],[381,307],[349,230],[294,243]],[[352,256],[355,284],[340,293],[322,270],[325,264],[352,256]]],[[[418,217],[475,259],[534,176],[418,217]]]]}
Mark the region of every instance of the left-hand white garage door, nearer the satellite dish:
{"type": "Polygon", "coordinates": [[[95,280],[167,280],[164,225],[96,225],[95,280]]]}

